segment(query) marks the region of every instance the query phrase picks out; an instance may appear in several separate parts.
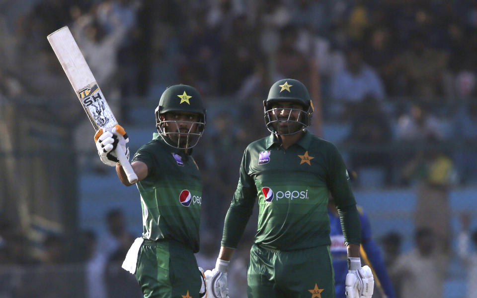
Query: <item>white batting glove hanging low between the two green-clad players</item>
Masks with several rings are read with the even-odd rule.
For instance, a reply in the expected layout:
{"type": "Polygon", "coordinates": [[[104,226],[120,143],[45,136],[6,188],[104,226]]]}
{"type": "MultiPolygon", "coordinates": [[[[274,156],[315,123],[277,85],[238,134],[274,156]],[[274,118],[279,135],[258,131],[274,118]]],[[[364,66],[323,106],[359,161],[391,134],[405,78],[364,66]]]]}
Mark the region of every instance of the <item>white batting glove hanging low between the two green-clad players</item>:
{"type": "Polygon", "coordinates": [[[229,289],[227,288],[227,271],[230,261],[217,259],[215,268],[207,270],[205,274],[207,293],[212,298],[229,298],[229,289]]]}

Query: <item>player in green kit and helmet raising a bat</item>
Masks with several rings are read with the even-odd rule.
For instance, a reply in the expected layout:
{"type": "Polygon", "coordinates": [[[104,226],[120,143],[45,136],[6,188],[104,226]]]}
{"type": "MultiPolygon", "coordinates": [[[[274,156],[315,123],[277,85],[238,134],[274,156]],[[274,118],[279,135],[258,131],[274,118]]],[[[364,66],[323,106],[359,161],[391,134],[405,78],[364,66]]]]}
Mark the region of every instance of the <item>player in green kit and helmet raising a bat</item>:
{"type": "MultiPolygon", "coordinates": [[[[201,298],[205,283],[194,253],[199,251],[202,178],[191,156],[204,131],[206,110],[199,92],[187,85],[168,87],[156,108],[157,133],[139,148],[131,166],[142,207],[143,235],[129,249],[123,268],[135,274],[145,298],[201,298]]],[[[129,183],[112,152],[127,152],[124,130],[98,130],[101,161],[115,166],[129,183]]]]}

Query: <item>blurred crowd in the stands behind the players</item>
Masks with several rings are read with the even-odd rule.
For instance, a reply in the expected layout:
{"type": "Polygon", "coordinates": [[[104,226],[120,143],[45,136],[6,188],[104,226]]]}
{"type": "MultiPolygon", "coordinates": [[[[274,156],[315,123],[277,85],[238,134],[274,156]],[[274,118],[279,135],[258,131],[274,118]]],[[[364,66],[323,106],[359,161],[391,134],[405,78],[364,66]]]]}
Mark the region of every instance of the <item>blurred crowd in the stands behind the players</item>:
{"type": "Polygon", "coordinates": [[[262,101],[290,77],[314,100],[312,132],[356,173],[398,297],[477,293],[477,1],[0,0],[0,298],[140,297],[119,266],[142,231],[138,193],[99,162],[46,40],[65,25],[132,152],[167,86],[202,93],[199,265],[215,264],[243,149],[267,134],[262,101]]]}

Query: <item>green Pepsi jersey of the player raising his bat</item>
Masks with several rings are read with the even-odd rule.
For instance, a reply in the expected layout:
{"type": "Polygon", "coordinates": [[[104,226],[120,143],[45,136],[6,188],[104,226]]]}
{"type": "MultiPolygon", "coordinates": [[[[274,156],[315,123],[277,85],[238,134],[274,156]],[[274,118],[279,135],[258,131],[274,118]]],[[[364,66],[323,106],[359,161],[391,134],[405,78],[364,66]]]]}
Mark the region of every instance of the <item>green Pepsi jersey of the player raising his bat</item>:
{"type": "Polygon", "coordinates": [[[159,133],[139,148],[132,162],[148,166],[137,182],[143,211],[143,237],[174,239],[199,251],[202,177],[192,156],[167,145],[159,133]]]}

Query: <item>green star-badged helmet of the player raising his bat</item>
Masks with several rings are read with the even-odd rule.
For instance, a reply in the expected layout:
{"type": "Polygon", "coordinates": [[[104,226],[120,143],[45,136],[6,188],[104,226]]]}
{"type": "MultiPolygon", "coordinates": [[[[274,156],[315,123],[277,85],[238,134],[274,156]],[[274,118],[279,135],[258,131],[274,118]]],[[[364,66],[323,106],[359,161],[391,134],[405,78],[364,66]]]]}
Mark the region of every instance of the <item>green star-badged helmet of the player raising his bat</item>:
{"type": "Polygon", "coordinates": [[[168,145],[179,149],[188,149],[197,145],[206,123],[206,110],[197,89],[188,85],[167,87],[160,97],[155,114],[156,128],[168,145]],[[164,117],[161,117],[161,115],[169,112],[197,114],[199,120],[165,120],[164,117]],[[188,123],[192,123],[190,128],[184,128],[188,123]]]}

